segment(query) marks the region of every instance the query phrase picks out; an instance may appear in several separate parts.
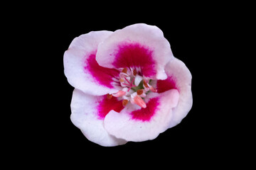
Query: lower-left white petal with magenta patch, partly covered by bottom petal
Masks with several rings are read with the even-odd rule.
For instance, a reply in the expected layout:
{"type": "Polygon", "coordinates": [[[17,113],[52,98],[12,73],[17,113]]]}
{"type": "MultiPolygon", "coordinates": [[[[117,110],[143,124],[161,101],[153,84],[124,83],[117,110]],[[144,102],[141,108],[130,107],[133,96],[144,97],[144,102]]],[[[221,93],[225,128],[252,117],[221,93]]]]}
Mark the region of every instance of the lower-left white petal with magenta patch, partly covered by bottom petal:
{"type": "MultiPolygon", "coordinates": [[[[115,100],[114,98],[112,100],[115,100]]],[[[122,107],[112,103],[118,101],[106,100],[106,96],[91,96],[75,89],[71,101],[71,120],[77,126],[88,140],[105,147],[124,145],[127,141],[117,139],[109,135],[103,127],[103,118],[114,109],[120,111],[122,107]]]]}

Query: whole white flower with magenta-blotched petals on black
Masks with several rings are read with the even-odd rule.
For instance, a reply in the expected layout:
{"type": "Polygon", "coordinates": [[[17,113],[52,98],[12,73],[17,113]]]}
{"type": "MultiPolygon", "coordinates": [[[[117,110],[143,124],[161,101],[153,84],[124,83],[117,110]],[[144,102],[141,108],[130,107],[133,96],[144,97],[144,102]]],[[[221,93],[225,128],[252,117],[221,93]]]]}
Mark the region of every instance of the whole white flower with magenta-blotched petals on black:
{"type": "Polygon", "coordinates": [[[191,73],[163,32],[138,23],[75,38],[64,54],[71,120],[102,146],[153,140],[192,106],[191,73]]]}

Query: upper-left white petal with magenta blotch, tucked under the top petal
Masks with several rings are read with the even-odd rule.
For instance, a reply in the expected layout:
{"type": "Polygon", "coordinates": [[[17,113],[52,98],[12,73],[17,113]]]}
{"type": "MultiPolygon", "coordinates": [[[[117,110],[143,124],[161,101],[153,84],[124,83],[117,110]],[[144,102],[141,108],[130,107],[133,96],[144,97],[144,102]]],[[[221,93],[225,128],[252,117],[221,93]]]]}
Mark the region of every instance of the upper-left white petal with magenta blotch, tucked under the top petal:
{"type": "Polygon", "coordinates": [[[87,94],[115,93],[117,69],[101,67],[95,60],[97,46],[111,31],[92,31],[75,38],[64,54],[64,72],[68,82],[87,94]]]}

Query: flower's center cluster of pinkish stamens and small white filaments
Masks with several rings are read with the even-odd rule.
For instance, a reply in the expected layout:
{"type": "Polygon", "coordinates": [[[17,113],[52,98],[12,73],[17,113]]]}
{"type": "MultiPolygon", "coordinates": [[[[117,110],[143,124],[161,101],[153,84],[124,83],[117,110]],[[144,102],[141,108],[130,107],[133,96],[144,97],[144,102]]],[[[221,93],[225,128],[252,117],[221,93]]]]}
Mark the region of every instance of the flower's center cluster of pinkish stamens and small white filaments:
{"type": "Polygon", "coordinates": [[[119,69],[119,82],[122,90],[115,94],[107,94],[107,98],[112,96],[121,98],[122,104],[126,106],[127,103],[137,104],[142,108],[146,108],[144,98],[150,91],[156,92],[153,86],[151,86],[151,79],[147,79],[138,74],[136,69],[121,68],[119,69]]]}

